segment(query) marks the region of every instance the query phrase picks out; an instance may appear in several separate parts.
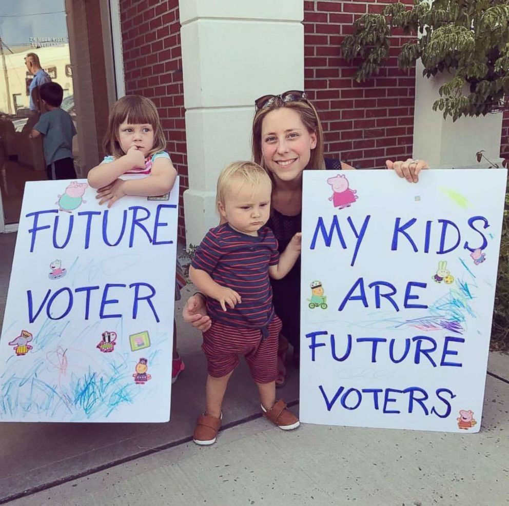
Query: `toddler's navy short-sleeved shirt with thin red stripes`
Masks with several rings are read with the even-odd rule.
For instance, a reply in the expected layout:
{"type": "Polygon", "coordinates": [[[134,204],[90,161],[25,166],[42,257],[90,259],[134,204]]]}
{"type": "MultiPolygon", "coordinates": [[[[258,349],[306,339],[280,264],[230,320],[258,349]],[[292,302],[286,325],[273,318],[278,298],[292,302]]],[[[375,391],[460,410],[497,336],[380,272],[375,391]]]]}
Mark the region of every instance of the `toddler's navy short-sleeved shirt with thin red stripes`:
{"type": "Polygon", "coordinates": [[[191,265],[242,298],[234,309],[227,306],[223,311],[220,303],[209,297],[210,317],[232,327],[265,327],[273,312],[268,268],[278,262],[278,241],[268,227],[262,227],[258,237],[237,232],[228,223],[210,229],[191,265]]]}

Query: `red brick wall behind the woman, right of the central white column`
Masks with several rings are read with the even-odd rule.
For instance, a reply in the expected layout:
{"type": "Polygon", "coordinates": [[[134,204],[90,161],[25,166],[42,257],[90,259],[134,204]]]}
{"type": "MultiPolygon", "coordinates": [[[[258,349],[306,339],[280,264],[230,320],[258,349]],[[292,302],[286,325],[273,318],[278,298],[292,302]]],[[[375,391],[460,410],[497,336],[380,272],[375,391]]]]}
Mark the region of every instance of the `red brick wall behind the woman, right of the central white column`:
{"type": "Polygon", "coordinates": [[[387,65],[366,83],[355,82],[356,68],[340,52],[354,20],[366,12],[381,12],[389,3],[304,1],[305,90],[322,119],[325,154],[365,169],[412,156],[415,69],[397,68],[398,47],[405,37],[391,39],[387,65]]]}

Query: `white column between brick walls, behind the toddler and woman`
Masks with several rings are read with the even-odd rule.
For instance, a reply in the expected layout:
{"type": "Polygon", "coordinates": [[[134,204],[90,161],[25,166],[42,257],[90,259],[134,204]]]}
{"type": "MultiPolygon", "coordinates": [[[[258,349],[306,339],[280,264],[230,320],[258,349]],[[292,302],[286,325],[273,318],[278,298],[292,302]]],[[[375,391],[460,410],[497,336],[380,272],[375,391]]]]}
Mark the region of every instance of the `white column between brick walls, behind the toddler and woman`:
{"type": "Polygon", "coordinates": [[[304,89],[304,11],[302,0],[180,0],[179,9],[189,246],[219,224],[219,172],[251,159],[254,100],[304,89]]]}

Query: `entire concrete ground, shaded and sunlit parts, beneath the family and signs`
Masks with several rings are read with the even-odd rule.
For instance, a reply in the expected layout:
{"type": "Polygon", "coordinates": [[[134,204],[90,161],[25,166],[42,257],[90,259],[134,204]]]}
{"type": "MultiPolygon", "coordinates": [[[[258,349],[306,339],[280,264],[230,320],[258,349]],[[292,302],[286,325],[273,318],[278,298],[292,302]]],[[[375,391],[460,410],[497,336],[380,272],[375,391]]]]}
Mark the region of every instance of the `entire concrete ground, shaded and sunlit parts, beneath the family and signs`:
{"type": "MultiPolygon", "coordinates": [[[[0,234],[2,294],[14,240],[0,234]]],[[[313,425],[284,433],[259,418],[243,366],[228,387],[225,429],[200,448],[190,436],[204,406],[206,363],[182,305],[175,312],[186,370],[172,390],[171,422],[0,423],[0,503],[509,503],[509,356],[490,354],[481,432],[465,435],[313,425]]],[[[298,374],[289,373],[279,393],[296,403],[298,374]]]]}

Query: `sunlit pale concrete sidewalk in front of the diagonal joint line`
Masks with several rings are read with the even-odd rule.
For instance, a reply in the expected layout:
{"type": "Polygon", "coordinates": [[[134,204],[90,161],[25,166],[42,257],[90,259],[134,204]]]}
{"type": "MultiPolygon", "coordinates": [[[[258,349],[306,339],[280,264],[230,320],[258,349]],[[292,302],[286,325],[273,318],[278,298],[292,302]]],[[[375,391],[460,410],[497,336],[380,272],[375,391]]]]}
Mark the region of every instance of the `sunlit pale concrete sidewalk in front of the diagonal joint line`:
{"type": "MultiPolygon", "coordinates": [[[[507,358],[492,354],[490,368],[502,373],[507,358]]],[[[508,504],[507,406],[509,381],[488,375],[479,434],[314,425],[284,433],[258,418],[211,447],[186,442],[11,504],[508,504]]]]}

